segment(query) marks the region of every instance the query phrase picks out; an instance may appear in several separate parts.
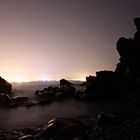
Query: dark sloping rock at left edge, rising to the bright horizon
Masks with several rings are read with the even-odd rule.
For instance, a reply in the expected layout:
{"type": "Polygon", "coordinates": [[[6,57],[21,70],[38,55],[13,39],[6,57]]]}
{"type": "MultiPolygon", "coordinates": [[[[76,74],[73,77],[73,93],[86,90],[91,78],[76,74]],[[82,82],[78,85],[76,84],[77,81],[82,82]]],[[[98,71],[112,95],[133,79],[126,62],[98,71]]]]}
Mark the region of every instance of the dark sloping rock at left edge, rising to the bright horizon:
{"type": "Polygon", "coordinates": [[[10,94],[12,90],[12,85],[5,79],[0,77],[0,93],[10,94]]]}

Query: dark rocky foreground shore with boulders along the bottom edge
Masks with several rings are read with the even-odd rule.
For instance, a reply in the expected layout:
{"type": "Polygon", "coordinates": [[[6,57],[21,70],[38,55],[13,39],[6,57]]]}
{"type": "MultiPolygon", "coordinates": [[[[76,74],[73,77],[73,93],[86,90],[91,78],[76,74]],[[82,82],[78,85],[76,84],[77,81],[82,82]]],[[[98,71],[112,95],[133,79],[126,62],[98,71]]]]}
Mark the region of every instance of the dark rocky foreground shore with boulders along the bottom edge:
{"type": "Polygon", "coordinates": [[[139,140],[140,113],[101,112],[98,118],[56,118],[38,127],[10,132],[0,140],[139,140]]]}

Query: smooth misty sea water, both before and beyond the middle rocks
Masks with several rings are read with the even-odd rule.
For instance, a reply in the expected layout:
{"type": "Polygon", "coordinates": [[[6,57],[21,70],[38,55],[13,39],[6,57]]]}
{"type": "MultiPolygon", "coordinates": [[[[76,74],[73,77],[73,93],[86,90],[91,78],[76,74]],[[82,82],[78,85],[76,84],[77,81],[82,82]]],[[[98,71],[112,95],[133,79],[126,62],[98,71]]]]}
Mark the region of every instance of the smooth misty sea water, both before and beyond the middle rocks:
{"type": "MultiPolygon", "coordinates": [[[[50,83],[50,85],[58,86],[58,82],[50,83]]],[[[28,96],[34,98],[34,92],[37,89],[48,87],[49,83],[24,83],[13,84],[13,92],[15,95],[28,96]]],[[[82,87],[78,87],[80,89],[82,87]]],[[[83,89],[81,89],[83,90],[83,89]]],[[[75,99],[65,99],[61,102],[55,101],[44,106],[17,107],[11,109],[0,108],[0,129],[12,130],[25,127],[37,127],[46,123],[48,120],[56,117],[88,117],[97,118],[97,114],[101,111],[120,111],[125,106],[110,102],[84,102],[75,99]]]]}

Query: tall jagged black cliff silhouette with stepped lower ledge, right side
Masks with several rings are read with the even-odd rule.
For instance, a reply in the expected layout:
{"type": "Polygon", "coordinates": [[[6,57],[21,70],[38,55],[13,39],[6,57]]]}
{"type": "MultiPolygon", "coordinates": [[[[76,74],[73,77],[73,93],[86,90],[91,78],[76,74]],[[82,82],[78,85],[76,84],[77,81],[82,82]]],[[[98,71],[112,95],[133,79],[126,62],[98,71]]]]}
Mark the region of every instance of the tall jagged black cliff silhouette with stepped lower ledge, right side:
{"type": "Polygon", "coordinates": [[[115,71],[99,71],[86,78],[84,95],[100,98],[140,99],[140,18],[134,18],[133,38],[121,37],[116,48],[120,55],[115,71]]]}

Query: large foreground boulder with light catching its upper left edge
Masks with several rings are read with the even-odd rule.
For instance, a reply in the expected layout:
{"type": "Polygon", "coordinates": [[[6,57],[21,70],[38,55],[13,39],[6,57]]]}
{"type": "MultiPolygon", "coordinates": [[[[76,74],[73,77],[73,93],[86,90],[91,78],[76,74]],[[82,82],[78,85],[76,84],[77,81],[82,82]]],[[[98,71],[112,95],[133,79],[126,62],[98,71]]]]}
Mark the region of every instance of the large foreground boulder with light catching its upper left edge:
{"type": "Polygon", "coordinates": [[[82,121],[72,118],[57,118],[48,122],[41,138],[67,139],[78,136],[86,137],[86,127],[82,121]]]}

